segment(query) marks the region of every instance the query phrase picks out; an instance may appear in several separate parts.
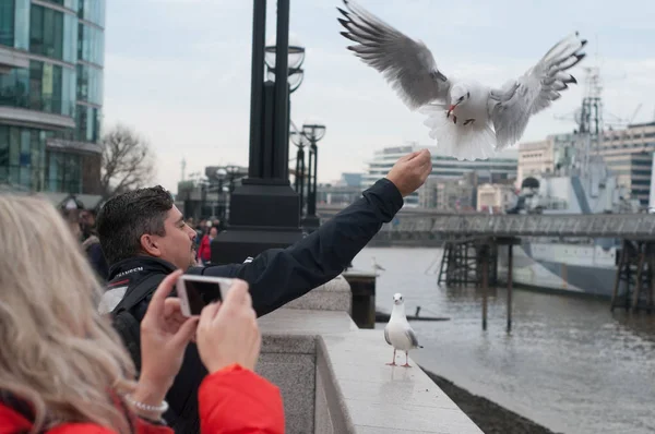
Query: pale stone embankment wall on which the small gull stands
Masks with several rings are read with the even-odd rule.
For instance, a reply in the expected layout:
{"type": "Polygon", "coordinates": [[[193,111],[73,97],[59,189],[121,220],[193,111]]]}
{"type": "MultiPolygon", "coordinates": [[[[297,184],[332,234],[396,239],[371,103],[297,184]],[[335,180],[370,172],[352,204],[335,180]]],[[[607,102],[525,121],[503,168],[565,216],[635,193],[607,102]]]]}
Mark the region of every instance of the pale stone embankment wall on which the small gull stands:
{"type": "Polygon", "coordinates": [[[393,350],[382,330],[359,329],[337,309],[349,305],[344,288],[337,278],[259,320],[257,371],[281,389],[286,433],[481,433],[412,359],[385,364],[393,350]]]}

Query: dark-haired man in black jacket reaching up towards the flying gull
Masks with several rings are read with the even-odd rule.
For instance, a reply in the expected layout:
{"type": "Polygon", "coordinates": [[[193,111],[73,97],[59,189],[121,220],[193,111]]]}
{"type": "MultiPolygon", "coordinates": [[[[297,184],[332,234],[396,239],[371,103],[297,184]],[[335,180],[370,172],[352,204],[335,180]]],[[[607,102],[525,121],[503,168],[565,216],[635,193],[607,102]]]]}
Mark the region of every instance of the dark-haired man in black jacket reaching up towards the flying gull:
{"type": "MultiPolygon", "coordinates": [[[[432,169],[427,149],[402,157],[385,178],[317,231],[287,249],[271,249],[249,263],[196,267],[194,228],[184,222],[170,194],[162,186],[141,189],[109,200],[98,215],[103,251],[111,268],[102,312],[112,312],[136,286],[155,291],[177,268],[188,274],[236,277],[248,281],[252,306],[265,315],[338,276],[403,206],[432,169]]],[[[141,321],[150,298],[132,313],[141,321]]],[[[138,345],[131,348],[139,365],[138,345]]],[[[139,367],[139,366],[138,366],[139,367]]],[[[164,414],[177,433],[200,431],[198,387],[206,375],[195,345],[190,343],[182,367],[169,389],[164,414]]]]}

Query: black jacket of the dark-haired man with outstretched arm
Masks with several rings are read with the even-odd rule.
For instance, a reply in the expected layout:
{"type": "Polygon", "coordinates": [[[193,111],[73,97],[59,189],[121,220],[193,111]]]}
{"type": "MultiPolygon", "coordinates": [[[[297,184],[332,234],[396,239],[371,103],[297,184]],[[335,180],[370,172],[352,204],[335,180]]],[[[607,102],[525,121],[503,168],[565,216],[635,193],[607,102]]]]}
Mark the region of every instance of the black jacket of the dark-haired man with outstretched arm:
{"type": "MultiPolygon", "coordinates": [[[[294,245],[267,250],[250,263],[192,267],[187,273],[248,281],[258,316],[265,315],[338,276],[402,206],[403,197],[396,186],[381,179],[362,197],[294,245]]],[[[127,286],[129,291],[153,274],[160,274],[164,279],[174,270],[172,264],[150,256],[124,260],[111,266],[109,289],[127,286]]],[[[157,286],[153,282],[153,292],[157,286]]],[[[148,301],[150,298],[134,309],[139,321],[145,315],[148,301]]],[[[189,345],[182,367],[166,396],[170,409],[164,418],[177,433],[200,432],[198,388],[206,373],[198,348],[189,345]]]]}

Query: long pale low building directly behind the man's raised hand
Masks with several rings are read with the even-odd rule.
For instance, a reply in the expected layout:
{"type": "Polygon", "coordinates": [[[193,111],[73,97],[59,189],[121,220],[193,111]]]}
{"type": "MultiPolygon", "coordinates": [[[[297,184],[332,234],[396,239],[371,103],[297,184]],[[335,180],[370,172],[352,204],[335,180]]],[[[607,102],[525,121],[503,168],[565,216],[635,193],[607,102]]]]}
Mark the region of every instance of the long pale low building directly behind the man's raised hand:
{"type": "MultiPolygon", "coordinates": [[[[362,188],[367,189],[380,178],[386,176],[402,156],[422,148],[412,144],[377,150],[369,161],[367,173],[362,178],[362,188]]],[[[444,157],[439,154],[437,147],[428,147],[428,149],[432,154],[431,178],[457,181],[469,173],[475,173],[478,182],[507,182],[516,179],[517,160],[515,150],[508,149],[499,153],[493,158],[469,161],[444,157]]],[[[405,197],[406,206],[420,206],[419,194],[421,189],[405,197]]]]}

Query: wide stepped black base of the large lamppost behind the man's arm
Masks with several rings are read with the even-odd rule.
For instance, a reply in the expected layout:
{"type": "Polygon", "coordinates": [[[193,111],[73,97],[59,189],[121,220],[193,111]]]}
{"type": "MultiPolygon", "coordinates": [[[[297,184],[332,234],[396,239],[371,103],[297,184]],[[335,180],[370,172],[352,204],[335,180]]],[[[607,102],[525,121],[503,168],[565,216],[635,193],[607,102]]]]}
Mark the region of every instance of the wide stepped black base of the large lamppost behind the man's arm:
{"type": "Polygon", "coordinates": [[[298,194],[288,181],[246,179],[230,197],[229,224],[212,241],[212,264],[237,264],[302,239],[298,194]]]}

